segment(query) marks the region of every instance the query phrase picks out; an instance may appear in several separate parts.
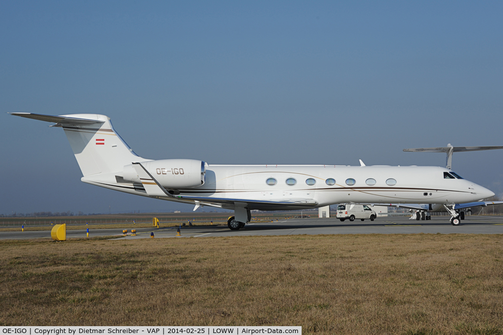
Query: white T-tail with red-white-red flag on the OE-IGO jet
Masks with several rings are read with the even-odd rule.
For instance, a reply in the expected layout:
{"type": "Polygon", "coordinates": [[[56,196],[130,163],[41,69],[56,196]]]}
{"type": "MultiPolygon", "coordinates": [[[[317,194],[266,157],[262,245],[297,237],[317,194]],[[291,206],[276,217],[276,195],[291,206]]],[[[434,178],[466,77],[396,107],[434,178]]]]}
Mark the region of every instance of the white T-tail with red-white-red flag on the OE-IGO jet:
{"type": "Polygon", "coordinates": [[[28,119],[56,123],[63,128],[83,176],[112,173],[124,165],[144,161],[114,130],[110,118],[99,114],[42,115],[10,113],[28,119]]]}

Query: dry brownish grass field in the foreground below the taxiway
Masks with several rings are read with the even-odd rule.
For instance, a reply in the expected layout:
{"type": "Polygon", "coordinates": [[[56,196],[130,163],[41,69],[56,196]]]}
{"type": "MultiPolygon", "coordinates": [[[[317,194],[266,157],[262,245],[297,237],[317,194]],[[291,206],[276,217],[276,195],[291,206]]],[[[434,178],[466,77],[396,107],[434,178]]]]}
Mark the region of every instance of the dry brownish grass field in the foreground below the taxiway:
{"type": "Polygon", "coordinates": [[[503,236],[0,242],[0,325],[502,334],[503,236]]]}

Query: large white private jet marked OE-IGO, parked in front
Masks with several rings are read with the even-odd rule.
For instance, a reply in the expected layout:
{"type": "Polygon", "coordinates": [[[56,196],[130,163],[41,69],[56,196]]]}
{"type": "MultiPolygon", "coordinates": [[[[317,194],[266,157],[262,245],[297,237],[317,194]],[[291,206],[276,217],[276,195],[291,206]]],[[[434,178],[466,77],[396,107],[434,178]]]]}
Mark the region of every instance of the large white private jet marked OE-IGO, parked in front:
{"type": "MultiPolygon", "coordinates": [[[[96,114],[11,113],[63,128],[85,183],[199,206],[233,209],[232,230],[250,210],[317,208],[336,203],[437,203],[459,225],[456,203],[493,196],[490,190],[434,166],[209,165],[192,159],[149,160],[136,155],[96,114]]],[[[363,164],[362,164],[363,165],[363,164]]],[[[371,219],[373,219],[372,217],[371,219]]]]}

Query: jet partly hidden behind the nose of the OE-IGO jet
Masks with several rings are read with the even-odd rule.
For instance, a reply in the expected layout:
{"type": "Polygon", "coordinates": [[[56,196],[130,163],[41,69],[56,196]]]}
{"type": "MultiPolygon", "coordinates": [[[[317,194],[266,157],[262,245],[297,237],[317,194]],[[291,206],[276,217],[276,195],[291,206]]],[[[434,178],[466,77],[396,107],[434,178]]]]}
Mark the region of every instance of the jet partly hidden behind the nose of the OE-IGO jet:
{"type": "MultiPolygon", "coordinates": [[[[446,169],[451,170],[452,168],[452,154],[454,152],[466,152],[466,151],[481,151],[481,150],[496,150],[503,149],[503,146],[481,146],[481,147],[453,147],[450,143],[447,147],[437,147],[437,148],[413,148],[413,149],[403,149],[405,152],[444,152],[447,154],[446,156],[446,169]]],[[[454,172],[444,174],[445,179],[460,179],[461,177],[454,172]]],[[[474,201],[468,203],[456,203],[454,204],[453,209],[458,213],[459,219],[465,218],[465,209],[469,209],[473,207],[486,207],[490,205],[501,204],[503,201],[474,201]]],[[[390,203],[390,206],[403,207],[414,210],[410,219],[416,220],[429,220],[431,219],[430,215],[427,215],[429,212],[438,212],[445,211],[445,206],[441,203],[390,203]]],[[[449,209],[447,209],[449,210],[449,209]]],[[[388,214],[389,215],[389,214],[388,214]]]]}

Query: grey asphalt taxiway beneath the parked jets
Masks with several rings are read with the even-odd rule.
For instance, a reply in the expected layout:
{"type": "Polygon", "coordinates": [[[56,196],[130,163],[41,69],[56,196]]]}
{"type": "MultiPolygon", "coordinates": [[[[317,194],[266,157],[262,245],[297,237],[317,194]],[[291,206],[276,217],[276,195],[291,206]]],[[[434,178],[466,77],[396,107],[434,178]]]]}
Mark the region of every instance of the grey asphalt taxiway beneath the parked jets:
{"type": "MultiPolygon", "coordinates": [[[[231,231],[226,226],[177,228],[138,228],[137,235],[130,232],[121,239],[225,237],[225,236],[272,236],[272,235],[319,235],[319,234],[503,234],[503,216],[466,216],[460,226],[452,226],[448,216],[432,216],[432,220],[410,220],[408,217],[378,217],[375,221],[330,218],[287,219],[274,222],[251,222],[243,229],[231,231]]],[[[121,229],[90,229],[90,237],[122,235],[121,229]]],[[[50,238],[50,231],[0,232],[0,239],[50,238]]],[[[67,230],[67,238],[85,238],[86,230],[67,230]]]]}

